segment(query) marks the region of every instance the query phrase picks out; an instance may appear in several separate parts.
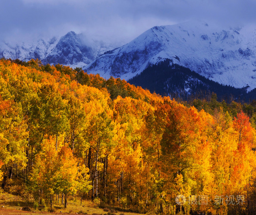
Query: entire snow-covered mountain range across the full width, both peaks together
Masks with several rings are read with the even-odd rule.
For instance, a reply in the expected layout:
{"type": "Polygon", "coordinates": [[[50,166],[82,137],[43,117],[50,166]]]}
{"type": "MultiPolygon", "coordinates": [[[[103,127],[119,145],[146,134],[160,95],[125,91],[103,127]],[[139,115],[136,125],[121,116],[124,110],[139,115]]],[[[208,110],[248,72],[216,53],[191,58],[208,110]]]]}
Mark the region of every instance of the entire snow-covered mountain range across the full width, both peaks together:
{"type": "Polygon", "coordinates": [[[70,31],[49,40],[0,43],[0,57],[26,61],[38,58],[44,64],[83,67],[103,78],[114,76],[125,80],[150,65],[170,59],[221,84],[234,87],[248,84],[248,90],[256,88],[256,27],[223,29],[191,22],[156,26],[128,44],[115,47],[70,31]]]}

